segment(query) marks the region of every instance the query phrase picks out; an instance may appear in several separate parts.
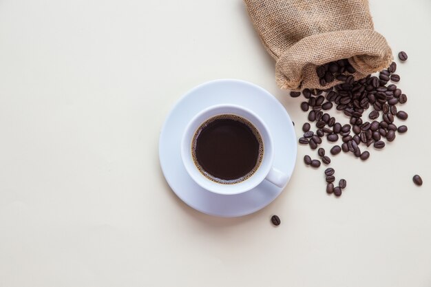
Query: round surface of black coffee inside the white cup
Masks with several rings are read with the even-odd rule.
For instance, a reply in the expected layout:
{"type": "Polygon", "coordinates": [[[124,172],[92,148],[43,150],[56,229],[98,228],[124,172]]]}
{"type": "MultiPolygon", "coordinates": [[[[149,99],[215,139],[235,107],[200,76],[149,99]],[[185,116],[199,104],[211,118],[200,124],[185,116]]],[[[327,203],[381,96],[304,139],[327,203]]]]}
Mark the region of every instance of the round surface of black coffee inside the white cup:
{"type": "Polygon", "coordinates": [[[255,173],[264,146],[257,129],[245,118],[221,115],[200,125],[191,147],[200,172],[215,182],[234,184],[255,173]]]}

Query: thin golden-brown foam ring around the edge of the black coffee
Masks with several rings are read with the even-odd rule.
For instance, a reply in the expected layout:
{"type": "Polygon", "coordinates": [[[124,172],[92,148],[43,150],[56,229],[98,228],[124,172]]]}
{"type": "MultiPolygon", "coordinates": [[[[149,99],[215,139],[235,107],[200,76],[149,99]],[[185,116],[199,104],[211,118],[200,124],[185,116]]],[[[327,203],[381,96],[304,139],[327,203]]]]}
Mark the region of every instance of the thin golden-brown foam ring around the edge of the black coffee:
{"type": "Polygon", "coordinates": [[[259,131],[257,131],[255,126],[252,123],[250,123],[249,120],[246,120],[245,118],[242,118],[241,116],[236,116],[233,114],[222,114],[219,116],[213,116],[212,118],[209,118],[204,123],[202,123],[202,125],[200,125],[198,127],[198,129],[196,130],[196,132],[193,136],[193,140],[191,141],[191,157],[193,158],[193,162],[196,165],[196,167],[199,169],[200,173],[202,173],[202,175],[204,175],[209,180],[212,180],[213,182],[217,182],[220,184],[236,184],[236,183],[243,182],[244,180],[250,178],[251,176],[253,176],[255,171],[257,171],[257,169],[259,169],[260,164],[262,163],[262,160],[264,157],[264,143],[262,140],[262,136],[260,136],[260,134],[259,134],[259,131]],[[203,129],[205,129],[205,127],[207,127],[209,124],[213,123],[215,120],[236,120],[240,123],[243,123],[244,125],[249,127],[249,129],[251,129],[251,131],[253,132],[253,135],[255,136],[255,139],[259,143],[259,152],[258,152],[257,162],[256,162],[255,166],[253,167],[253,169],[251,171],[246,173],[244,176],[241,176],[240,178],[235,178],[234,180],[223,180],[222,178],[217,178],[217,177],[211,175],[211,173],[208,173],[207,171],[205,171],[205,169],[198,162],[198,158],[196,156],[196,146],[197,146],[199,135],[200,135],[201,131],[203,129]]]}

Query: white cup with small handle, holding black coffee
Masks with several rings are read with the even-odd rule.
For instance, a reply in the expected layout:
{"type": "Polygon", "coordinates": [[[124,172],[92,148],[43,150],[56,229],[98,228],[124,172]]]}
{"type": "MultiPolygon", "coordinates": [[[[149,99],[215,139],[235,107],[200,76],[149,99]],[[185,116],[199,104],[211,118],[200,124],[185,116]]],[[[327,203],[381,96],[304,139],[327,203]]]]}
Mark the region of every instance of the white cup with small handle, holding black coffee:
{"type": "Polygon", "coordinates": [[[200,187],[222,195],[244,193],[257,187],[263,180],[268,180],[277,187],[284,187],[289,180],[288,175],[273,166],[274,148],[269,129],[253,111],[239,105],[214,105],[197,114],[187,125],[182,136],[181,158],[187,173],[200,187]],[[191,149],[193,137],[202,123],[214,116],[225,114],[240,116],[248,120],[259,132],[264,146],[263,158],[257,170],[249,178],[234,184],[218,183],[204,176],[193,161],[191,149]]]}

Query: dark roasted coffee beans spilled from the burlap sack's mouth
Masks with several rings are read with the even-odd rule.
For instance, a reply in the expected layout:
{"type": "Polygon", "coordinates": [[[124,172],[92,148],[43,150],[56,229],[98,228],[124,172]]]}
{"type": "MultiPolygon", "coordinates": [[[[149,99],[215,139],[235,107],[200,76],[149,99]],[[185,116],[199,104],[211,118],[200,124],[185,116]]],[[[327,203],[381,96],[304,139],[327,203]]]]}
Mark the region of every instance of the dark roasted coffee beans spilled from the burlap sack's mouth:
{"type": "MultiPolygon", "coordinates": [[[[407,59],[406,52],[399,53],[399,59],[407,59]]],[[[306,100],[301,103],[302,111],[308,112],[308,123],[302,125],[304,136],[299,138],[301,145],[308,145],[311,149],[317,149],[317,155],[325,165],[330,164],[330,158],[319,145],[322,138],[334,143],[330,154],[336,156],[344,153],[353,153],[356,158],[368,160],[370,151],[364,150],[374,147],[376,150],[386,147],[386,142],[392,142],[397,134],[403,134],[408,129],[406,125],[395,125],[395,118],[407,120],[406,111],[399,107],[407,102],[406,94],[395,85],[400,81],[400,76],[395,74],[397,63],[379,72],[378,76],[368,75],[355,81],[353,73],[355,68],[347,59],[327,63],[318,66],[317,76],[321,85],[326,85],[337,79],[341,83],[329,89],[304,89],[302,95],[306,100]],[[392,82],[392,83],[390,83],[392,82]],[[341,111],[348,118],[348,123],[340,123],[330,109],[341,111]],[[369,111],[368,111],[369,110],[369,111]],[[315,129],[312,130],[312,123],[315,129]],[[336,142],[341,138],[341,147],[336,142]]],[[[296,98],[300,92],[291,92],[296,98]]],[[[304,162],[311,167],[320,167],[321,162],[312,160],[310,156],[304,156],[304,162]]],[[[341,190],[346,188],[346,180],[341,179],[335,187],[335,171],[332,168],[325,170],[326,192],[341,195],[341,190]]],[[[419,182],[414,180],[415,183],[419,182]]]]}

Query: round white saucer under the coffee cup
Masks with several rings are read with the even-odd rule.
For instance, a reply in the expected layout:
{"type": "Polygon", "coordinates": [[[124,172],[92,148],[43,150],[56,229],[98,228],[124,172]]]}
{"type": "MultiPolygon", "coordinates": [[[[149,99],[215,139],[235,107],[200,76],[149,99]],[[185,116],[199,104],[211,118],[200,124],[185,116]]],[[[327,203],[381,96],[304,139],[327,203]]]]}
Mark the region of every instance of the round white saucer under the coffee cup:
{"type": "Polygon", "coordinates": [[[167,183],[193,209],[221,217],[236,217],[258,211],[271,203],[282,188],[264,180],[254,189],[237,195],[220,195],[202,189],[187,173],[181,160],[182,134],[191,118],[211,105],[242,105],[260,116],[274,144],[274,167],[291,176],[297,143],[291,118],[269,92],[240,80],[222,79],[204,83],[182,96],[162,127],[159,141],[160,165],[167,183]]]}

